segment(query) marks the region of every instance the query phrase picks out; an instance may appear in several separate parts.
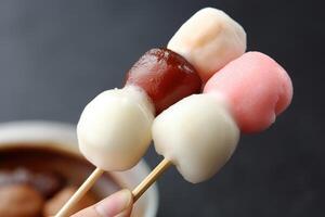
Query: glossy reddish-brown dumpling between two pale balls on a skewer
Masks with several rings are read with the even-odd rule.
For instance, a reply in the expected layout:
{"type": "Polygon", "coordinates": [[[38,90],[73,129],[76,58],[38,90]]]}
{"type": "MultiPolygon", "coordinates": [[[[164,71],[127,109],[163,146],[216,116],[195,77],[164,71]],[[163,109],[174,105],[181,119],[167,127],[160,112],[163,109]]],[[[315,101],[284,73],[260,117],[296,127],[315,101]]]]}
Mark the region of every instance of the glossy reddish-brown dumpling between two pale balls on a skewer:
{"type": "Polygon", "coordinates": [[[195,68],[178,53],[152,49],[129,71],[126,85],[145,90],[157,115],[179,100],[198,93],[202,80],[195,68]]]}

